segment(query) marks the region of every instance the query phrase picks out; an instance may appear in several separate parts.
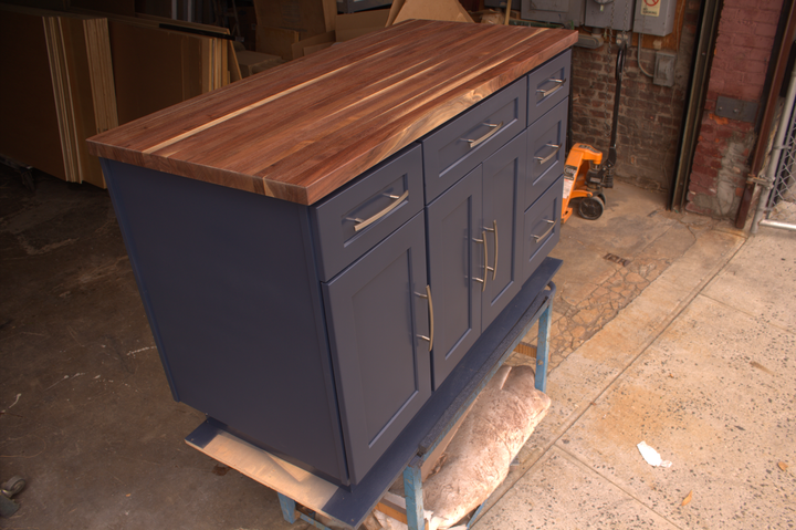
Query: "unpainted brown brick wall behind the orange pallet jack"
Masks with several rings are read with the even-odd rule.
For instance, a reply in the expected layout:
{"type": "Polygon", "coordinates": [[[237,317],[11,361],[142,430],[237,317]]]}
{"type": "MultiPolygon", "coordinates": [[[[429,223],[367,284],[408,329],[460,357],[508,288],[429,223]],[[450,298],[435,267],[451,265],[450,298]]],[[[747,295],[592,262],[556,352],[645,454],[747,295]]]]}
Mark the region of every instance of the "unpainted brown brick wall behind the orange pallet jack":
{"type": "MultiPolygon", "coordinates": [[[[668,190],[674,175],[680,124],[687,98],[692,53],[699,20],[699,0],[683,0],[682,32],[677,49],[674,86],[658,86],[638,67],[638,49],[632,46],[625,62],[620,97],[616,177],[636,185],[668,190]]],[[[608,154],[610,139],[616,51],[575,48],[573,52],[573,142],[591,144],[608,154]]],[[[673,50],[672,50],[673,51],[673,50]]],[[[641,50],[649,73],[654,69],[654,50],[641,50]]]]}

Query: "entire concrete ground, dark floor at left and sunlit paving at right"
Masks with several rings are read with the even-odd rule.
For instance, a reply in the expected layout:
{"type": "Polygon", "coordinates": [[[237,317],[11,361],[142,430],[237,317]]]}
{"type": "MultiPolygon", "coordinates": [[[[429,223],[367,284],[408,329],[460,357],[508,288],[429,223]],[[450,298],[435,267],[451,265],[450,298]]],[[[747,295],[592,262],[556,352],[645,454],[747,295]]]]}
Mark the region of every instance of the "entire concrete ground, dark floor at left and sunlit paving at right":
{"type": "MultiPolygon", "coordinates": [[[[107,194],[36,180],[0,175],[0,480],[28,479],[0,528],[308,528],[182,441],[202,415],[171,399],[107,194]]],[[[564,227],[553,406],[476,529],[794,527],[796,235],[663,202],[618,183],[564,227]]]]}

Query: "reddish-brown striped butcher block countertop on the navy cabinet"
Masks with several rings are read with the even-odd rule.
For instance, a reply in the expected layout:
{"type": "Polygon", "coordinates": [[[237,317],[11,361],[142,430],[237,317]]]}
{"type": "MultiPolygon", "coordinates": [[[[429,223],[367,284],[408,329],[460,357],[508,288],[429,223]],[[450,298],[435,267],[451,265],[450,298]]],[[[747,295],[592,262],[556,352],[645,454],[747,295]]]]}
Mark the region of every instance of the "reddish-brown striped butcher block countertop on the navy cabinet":
{"type": "Polygon", "coordinates": [[[576,41],[412,20],[94,136],[90,150],[312,205],[576,41]]]}

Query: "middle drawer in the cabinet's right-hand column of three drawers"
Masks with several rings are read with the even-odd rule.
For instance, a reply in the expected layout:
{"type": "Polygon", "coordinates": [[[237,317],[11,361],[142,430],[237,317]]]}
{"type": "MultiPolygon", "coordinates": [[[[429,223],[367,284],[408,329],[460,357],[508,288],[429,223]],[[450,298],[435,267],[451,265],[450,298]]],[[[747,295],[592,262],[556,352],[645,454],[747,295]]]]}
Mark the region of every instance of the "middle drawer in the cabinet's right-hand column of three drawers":
{"type": "Polygon", "coordinates": [[[551,187],[564,173],[568,98],[528,127],[527,181],[524,208],[551,187]]]}

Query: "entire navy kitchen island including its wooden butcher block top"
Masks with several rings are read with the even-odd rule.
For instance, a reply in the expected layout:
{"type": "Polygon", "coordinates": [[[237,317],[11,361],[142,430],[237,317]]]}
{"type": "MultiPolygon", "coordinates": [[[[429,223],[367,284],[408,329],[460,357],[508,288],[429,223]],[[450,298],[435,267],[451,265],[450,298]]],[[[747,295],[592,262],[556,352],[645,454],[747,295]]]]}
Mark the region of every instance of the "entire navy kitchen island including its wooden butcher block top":
{"type": "Polygon", "coordinates": [[[552,278],[576,40],[408,21],[91,138],[175,399],[367,489],[552,278]]]}

